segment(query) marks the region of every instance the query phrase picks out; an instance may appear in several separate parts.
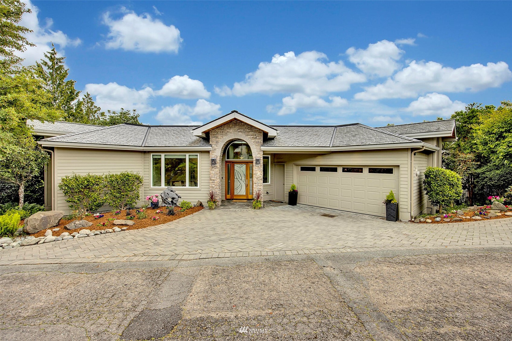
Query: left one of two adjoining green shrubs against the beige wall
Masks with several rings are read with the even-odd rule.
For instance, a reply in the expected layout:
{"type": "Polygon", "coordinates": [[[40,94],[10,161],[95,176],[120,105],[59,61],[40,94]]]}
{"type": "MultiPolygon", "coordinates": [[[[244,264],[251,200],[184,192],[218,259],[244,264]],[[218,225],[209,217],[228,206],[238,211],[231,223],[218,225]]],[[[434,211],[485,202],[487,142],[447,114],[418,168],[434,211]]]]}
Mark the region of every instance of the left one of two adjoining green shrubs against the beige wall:
{"type": "Polygon", "coordinates": [[[59,189],[68,198],[69,207],[72,211],[83,215],[86,212],[96,211],[103,206],[104,200],[101,197],[104,189],[103,175],[67,175],[62,177],[59,189]]]}

